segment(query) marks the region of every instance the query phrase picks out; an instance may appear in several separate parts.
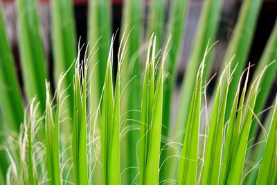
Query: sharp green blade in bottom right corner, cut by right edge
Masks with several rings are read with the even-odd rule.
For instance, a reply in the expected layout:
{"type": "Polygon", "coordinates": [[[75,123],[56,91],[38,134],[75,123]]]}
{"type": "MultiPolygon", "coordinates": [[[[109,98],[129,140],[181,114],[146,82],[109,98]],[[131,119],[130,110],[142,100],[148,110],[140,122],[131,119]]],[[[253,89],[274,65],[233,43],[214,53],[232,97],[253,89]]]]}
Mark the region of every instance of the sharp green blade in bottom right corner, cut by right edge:
{"type": "Polygon", "coordinates": [[[262,157],[256,184],[273,184],[274,170],[276,170],[277,156],[277,99],[274,105],[274,115],[271,121],[267,145],[262,157]]]}

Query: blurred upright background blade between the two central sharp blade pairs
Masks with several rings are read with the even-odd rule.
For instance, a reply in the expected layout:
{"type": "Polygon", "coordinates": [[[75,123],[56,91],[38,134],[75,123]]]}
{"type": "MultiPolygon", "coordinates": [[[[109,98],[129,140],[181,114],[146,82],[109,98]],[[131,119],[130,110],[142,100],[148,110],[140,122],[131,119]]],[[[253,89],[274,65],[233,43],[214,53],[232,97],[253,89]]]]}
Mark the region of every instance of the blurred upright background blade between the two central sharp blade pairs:
{"type": "MultiPolygon", "coordinates": [[[[122,47],[126,47],[125,58],[122,63],[121,76],[121,90],[123,96],[121,98],[121,112],[124,114],[127,110],[132,110],[128,114],[125,114],[123,119],[129,119],[134,121],[125,122],[131,127],[139,124],[136,121],[140,120],[141,109],[141,60],[140,60],[140,47],[141,47],[141,34],[142,34],[142,1],[141,0],[126,0],[123,12],[123,25],[121,26],[122,47]],[[124,33],[124,35],[123,35],[124,33]],[[126,45],[125,45],[126,44],[126,45]],[[129,84],[128,84],[129,83],[129,84]],[[136,98],[134,98],[136,97],[136,98]]],[[[127,126],[125,125],[125,126],[127,126]]],[[[129,166],[137,166],[136,160],[136,143],[139,140],[139,132],[129,132],[126,135],[126,140],[123,140],[122,153],[124,153],[124,161],[121,168],[127,168],[129,166]]],[[[128,170],[126,172],[127,184],[132,183],[136,176],[135,170],[128,170]]]]}

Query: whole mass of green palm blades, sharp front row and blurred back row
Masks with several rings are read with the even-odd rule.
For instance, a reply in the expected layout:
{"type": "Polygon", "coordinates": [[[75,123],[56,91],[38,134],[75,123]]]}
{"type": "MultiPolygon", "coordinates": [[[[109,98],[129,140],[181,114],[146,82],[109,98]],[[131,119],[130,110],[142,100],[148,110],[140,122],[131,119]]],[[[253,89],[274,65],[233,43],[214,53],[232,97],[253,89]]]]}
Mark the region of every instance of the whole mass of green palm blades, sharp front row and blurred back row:
{"type": "Polygon", "coordinates": [[[24,94],[0,12],[0,184],[277,184],[276,96],[265,107],[277,22],[254,67],[247,55],[261,1],[245,0],[213,76],[221,3],[204,3],[176,118],[187,1],[170,3],[166,25],[166,1],[151,1],[143,35],[142,1],[126,0],[114,51],[108,0],[90,1],[89,44],[78,50],[71,1],[54,0],[51,85],[36,3],[17,0],[24,94]]]}

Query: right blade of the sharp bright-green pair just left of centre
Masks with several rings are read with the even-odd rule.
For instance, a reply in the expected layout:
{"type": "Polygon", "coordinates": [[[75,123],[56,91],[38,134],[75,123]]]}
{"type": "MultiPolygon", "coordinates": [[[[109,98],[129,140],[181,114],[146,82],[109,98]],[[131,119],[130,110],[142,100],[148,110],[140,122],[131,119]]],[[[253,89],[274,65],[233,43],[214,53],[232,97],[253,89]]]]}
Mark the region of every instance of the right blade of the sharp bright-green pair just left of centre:
{"type": "MultiPolygon", "coordinates": [[[[119,63],[120,64],[120,63],[119,63]]],[[[114,117],[112,122],[111,146],[109,153],[108,184],[120,184],[119,164],[119,126],[120,126],[120,65],[116,75],[116,89],[114,94],[114,117]]]]}

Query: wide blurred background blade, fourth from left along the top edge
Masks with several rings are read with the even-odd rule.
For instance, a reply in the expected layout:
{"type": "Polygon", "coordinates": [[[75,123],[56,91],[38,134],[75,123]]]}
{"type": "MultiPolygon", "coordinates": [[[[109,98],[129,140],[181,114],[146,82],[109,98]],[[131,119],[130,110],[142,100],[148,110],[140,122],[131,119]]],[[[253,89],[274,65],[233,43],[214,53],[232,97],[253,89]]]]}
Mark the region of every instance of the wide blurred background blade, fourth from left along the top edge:
{"type": "Polygon", "coordinates": [[[109,44],[111,41],[111,7],[109,0],[90,0],[87,37],[89,51],[93,57],[89,61],[89,71],[93,71],[89,88],[93,98],[89,99],[89,109],[96,112],[105,81],[109,44]],[[104,21],[105,20],[105,21],[104,21]]]}

